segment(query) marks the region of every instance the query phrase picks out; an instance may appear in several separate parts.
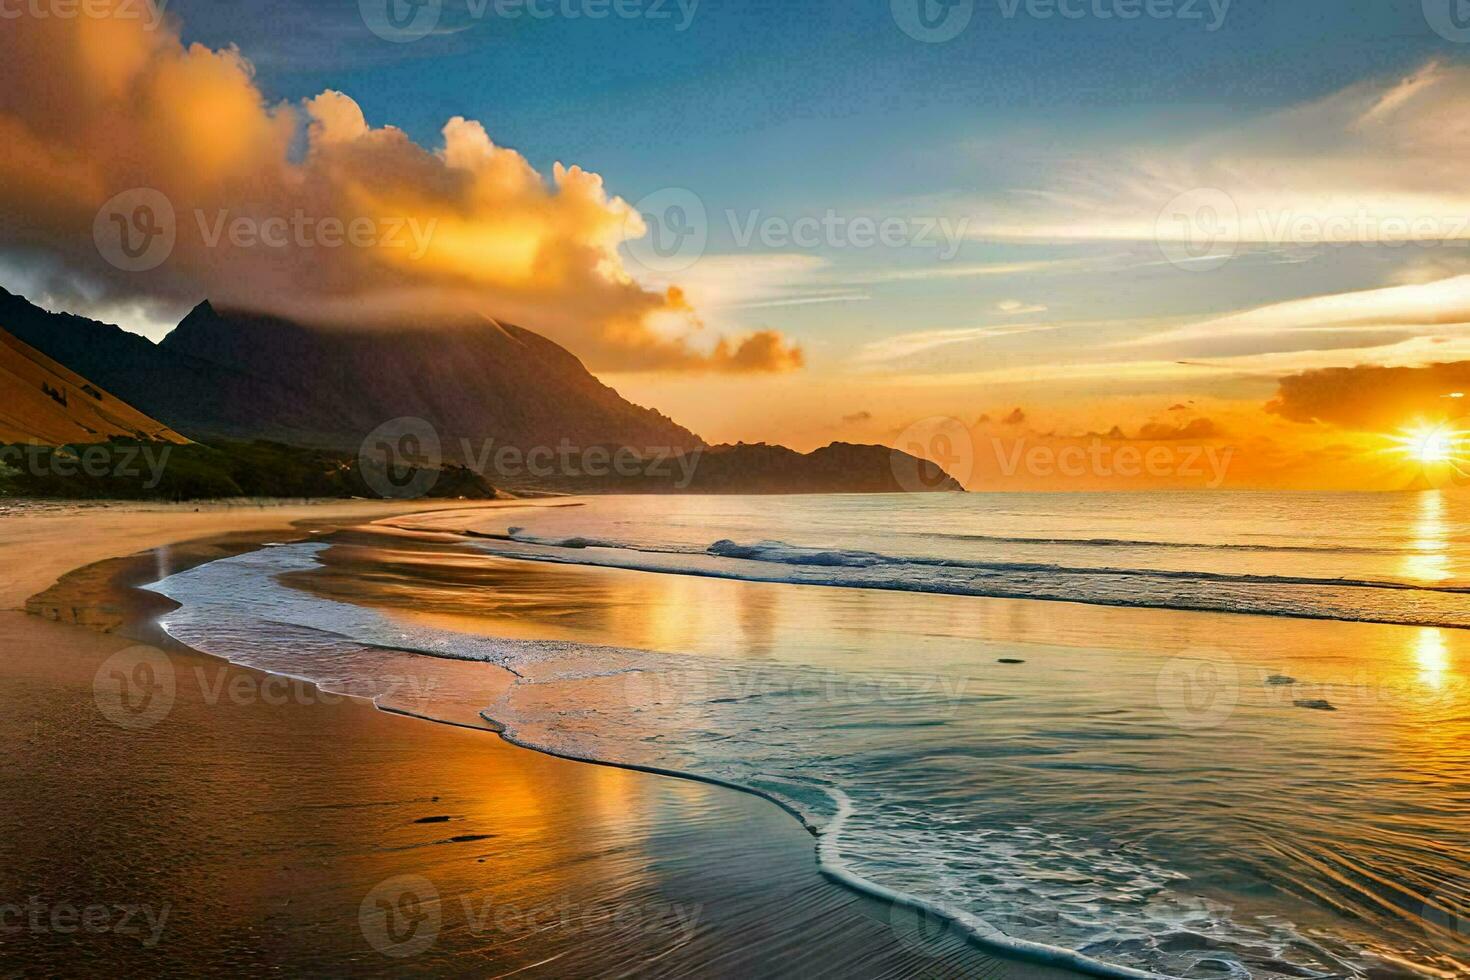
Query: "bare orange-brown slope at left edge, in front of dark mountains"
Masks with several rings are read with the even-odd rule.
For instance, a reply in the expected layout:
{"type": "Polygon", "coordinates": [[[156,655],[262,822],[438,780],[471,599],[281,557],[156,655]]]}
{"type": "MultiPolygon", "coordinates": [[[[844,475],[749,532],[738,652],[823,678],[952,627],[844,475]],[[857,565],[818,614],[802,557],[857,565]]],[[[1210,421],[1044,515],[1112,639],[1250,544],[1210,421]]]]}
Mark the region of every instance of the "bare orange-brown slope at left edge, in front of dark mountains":
{"type": "Polygon", "coordinates": [[[16,339],[0,320],[0,444],[187,442],[162,422],[16,339]]]}

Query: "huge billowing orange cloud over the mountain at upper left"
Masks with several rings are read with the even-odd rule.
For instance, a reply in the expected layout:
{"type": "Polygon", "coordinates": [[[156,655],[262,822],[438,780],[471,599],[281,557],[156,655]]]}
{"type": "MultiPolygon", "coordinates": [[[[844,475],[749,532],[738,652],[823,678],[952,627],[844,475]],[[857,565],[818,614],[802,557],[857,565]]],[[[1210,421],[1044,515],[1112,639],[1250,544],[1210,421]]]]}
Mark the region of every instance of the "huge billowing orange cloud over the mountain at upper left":
{"type": "MultiPolygon", "coordinates": [[[[148,25],[25,18],[0,35],[0,254],[50,270],[53,295],[175,309],[207,295],[353,325],[485,313],[597,369],[801,366],[775,332],[698,344],[682,294],[623,267],[642,220],[598,175],[557,163],[547,181],[463,118],[425,148],[338,91],[273,106],[238,50],[148,25]],[[109,263],[93,235],[98,209],[134,188],[172,210],[172,248],[144,270],[109,263]]],[[[126,223],[134,203],[119,207],[126,223]]]]}

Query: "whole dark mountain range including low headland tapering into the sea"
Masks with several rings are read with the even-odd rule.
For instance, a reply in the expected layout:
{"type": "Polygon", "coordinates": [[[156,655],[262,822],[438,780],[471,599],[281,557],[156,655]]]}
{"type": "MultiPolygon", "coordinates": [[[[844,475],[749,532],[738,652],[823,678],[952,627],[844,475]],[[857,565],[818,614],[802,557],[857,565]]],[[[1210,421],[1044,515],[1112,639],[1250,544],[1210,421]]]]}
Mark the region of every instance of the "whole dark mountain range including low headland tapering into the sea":
{"type": "MultiPolygon", "coordinates": [[[[390,453],[384,463],[434,469],[440,460],[417,455],[423,441],[403,438],[422,426],[397,426],[387,438],[379,430],[422,419],[438,436],[442,461],[472,466],[487,489],[963,489],[938,466],[882,445],[833,442],[806,454],[766,444],[707,447],[667,416],[625,400],[557,344],[488,317],[328,329],[206,301],[153,344],[0,289],[0,326],[200,441],[265,439],[350,455],[373,447],[390,453]],[[501,455],[512,448],[519,453],[501,455]]],[[[229,455],[241,455],[240,445],[229,455]]]]}

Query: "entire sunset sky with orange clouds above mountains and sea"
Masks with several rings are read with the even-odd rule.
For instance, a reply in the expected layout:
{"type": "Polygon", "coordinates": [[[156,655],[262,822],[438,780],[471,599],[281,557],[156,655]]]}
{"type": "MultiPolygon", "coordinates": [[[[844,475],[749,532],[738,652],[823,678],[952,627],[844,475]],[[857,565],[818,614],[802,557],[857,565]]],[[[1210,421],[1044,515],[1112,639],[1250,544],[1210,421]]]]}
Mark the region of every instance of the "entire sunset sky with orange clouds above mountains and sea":
{"type": "Polygon", "coordinates": [[[28,96],[3,76],[25,57],[0,66],[12,163],[85,192],[6,201],[0,272],[153,336],[204,295],[473,307],[710,441],[933,455],[963,432],[972,485],[1394,488],[1452,463],[1398,451],[1458,439],[1470,363],[1451,0],[428,0],[394,7],[406,31],[390,1],[22,16],[9,43],[81,81],[28,96]],[[181,244],[98,266],[74,225],[140,185],[181,244]],[[184,244],[209,238],[193,213],[301,207],[429,244],[184,244]],[[1123,450],[1157,472],[1120,475],[1123,450]],[[1207,450],[1219,480],[1185,473],[1207,450]]]}

